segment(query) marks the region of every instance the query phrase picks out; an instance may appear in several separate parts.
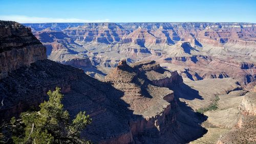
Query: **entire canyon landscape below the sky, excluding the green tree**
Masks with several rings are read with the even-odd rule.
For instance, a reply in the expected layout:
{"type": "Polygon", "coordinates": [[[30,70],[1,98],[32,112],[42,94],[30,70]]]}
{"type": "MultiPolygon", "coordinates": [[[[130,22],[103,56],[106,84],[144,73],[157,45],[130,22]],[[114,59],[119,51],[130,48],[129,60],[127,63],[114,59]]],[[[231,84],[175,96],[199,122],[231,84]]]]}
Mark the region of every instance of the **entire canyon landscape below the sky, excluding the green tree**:
{"type": "Polygon", "coordinates": [[[1,120],[38,108],[58,86],[72,117],[92,118],[81,137],[95,143],[253,143],[254,29],[0,21],[1,120]]]}

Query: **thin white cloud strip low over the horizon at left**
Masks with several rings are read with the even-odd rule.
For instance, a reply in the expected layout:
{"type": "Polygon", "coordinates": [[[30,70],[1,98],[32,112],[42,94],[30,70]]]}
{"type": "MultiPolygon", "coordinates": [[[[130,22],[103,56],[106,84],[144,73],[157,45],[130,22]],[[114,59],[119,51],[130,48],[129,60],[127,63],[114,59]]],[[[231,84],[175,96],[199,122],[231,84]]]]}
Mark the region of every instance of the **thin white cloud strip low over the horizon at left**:
{"type": "Polygon", "coordinates": [[[25,15],[0,15],[0,20],[17,21],[19,23],[44,23],[44,22],[110,22],[110,19],[87,20],[79,18],[51,18],[30,17],[25,15]]]}

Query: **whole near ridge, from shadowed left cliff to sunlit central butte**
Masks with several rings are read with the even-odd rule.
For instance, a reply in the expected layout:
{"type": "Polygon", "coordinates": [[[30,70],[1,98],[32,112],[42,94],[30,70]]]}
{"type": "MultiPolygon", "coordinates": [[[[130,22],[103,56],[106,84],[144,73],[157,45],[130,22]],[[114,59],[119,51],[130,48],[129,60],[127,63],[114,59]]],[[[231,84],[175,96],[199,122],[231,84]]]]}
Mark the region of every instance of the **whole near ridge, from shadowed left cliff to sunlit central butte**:
{"type": "Polygon", "coordinates": [[[30,29],[17,22],[0,23],[7,28],[1,29],[1,44],[29,42],[29,47],[18,47],[22,56],[15,45],[8,49],[1,45],[1,55],[11,54],[5,59],[18,59],[14,63],[17,67],[12,61],[1,61],[8,65],[1,65],[6,73],[0,79],[1,121],[37,109],[47,100],[46,92],[58,86],[65,95],[62,103],[72,116],[81,110],[90,114],[93,123],[81,136],[96,143],[186,143],[206,132],[196,112],[180,106],[170,90],[183,84],[177,71],[166,70],[156,61],[128,65],[121,60],[104,81],[99,81],[82,69],[46,59],[46,48],[30,29]],[[11,31],[7,31],[9,28],[11,31]]]}

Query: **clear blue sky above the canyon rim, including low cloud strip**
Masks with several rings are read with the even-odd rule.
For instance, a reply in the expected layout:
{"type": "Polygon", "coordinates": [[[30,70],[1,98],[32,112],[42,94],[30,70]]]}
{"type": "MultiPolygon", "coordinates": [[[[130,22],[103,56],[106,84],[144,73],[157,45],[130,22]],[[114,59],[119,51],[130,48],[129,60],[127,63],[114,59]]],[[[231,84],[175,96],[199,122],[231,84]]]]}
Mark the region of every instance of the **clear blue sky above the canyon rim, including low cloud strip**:
{"type": "Polygon", "coordinates": [[[256,23],[256,0],[0,0],[0,20],[256,23]]]}

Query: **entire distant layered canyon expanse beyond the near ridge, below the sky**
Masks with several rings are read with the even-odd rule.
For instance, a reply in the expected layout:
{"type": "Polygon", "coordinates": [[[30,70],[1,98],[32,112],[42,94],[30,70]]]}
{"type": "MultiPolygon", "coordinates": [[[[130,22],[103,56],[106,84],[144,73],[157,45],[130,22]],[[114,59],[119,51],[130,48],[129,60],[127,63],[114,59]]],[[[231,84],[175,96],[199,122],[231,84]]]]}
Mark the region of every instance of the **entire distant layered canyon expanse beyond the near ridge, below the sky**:
{"type": "Polygon", "coordinates": [[[248,90],[255,85],[254,23],[25,23],[25,26],[47,47],[50,60],[81,67],[100,80],[109,73],[108,69],[125,58],[129,63],[155,60],[194,81],[233,78],[248,90]]]}

